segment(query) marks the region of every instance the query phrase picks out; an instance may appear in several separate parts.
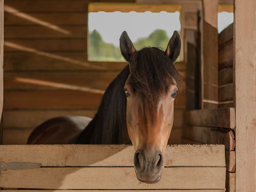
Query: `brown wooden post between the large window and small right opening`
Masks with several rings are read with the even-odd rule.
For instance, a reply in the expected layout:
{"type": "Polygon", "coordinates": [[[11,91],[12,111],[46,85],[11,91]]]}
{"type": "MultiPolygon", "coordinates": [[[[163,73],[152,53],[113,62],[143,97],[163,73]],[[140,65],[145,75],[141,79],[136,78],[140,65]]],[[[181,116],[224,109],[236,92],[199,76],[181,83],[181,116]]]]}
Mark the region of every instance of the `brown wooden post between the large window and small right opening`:
{"type": "Polygon", "coordinates": [[[218,0],[202,0],[201,108],[218,108],[218,0]]]}

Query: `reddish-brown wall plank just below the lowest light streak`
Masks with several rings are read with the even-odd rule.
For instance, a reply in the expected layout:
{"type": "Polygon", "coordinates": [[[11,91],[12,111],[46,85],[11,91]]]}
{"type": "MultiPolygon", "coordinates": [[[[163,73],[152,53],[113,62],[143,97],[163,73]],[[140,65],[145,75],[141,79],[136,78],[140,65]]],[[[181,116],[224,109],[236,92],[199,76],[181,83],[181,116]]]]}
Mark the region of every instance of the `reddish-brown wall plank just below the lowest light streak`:
{"type": "Polygon", "coordinates": [[[101,98],[89,91],[5,91],[4,109],[96,109],[101,98]]]}

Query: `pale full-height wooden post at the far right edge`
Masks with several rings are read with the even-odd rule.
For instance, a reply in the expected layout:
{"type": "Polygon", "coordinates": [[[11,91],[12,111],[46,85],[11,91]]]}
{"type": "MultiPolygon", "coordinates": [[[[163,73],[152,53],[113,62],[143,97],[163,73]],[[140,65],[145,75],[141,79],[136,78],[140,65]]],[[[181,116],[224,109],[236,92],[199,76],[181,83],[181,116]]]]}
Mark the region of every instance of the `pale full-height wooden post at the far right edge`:
{"type": "Polygon", "coordinates": [[[256,191],[256,1],[234,0],[236,191],[256,191]]]}

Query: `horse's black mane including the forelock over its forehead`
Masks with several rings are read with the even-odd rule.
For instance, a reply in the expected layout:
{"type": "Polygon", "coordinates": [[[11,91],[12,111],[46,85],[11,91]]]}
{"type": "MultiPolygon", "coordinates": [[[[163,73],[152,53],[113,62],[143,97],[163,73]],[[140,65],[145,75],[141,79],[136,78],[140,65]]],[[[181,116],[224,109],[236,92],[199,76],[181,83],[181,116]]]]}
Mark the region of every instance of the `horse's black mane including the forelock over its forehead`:
{"type": "Polygon", "coordinates": [[[182,89],[183,80],[173,61],[156,47],[136,51],[106,89],[98,112],[78,135],[75,144],[131,144],[126,125],[126,97],[123,93],[128,78],[134,90],[141,92],[152,104],[166,93],[170,84],[182,89]]]}

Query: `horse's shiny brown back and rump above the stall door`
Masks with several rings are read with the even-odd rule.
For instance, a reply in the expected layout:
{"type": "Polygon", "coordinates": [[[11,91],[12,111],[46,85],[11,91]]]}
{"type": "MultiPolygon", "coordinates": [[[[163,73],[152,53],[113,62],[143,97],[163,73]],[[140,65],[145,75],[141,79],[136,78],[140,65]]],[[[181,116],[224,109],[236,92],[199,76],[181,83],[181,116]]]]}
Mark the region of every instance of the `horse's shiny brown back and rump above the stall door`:
{"type": "Polygon", "coordinates": [[[27,144],[71,144],[91,120],[84,116],[52,118],[34,129],[27,144]]]}

